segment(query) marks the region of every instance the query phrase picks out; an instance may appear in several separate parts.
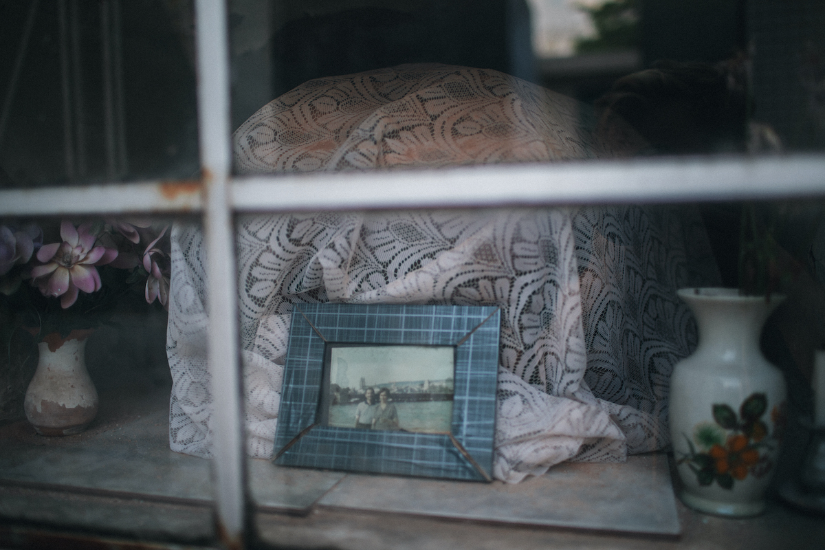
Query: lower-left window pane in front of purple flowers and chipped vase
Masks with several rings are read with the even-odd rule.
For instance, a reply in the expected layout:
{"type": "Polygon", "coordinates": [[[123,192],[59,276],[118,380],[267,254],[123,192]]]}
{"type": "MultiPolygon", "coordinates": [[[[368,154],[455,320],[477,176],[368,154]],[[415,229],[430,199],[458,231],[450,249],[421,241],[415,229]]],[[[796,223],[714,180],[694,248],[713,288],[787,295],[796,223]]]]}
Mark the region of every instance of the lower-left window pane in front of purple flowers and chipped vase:
{"type": "Polygon", "coordinates": [[[170,449],[171,231],[172,219],[0,221],[4,520],[214,536],[210,462],[170,449]]]}

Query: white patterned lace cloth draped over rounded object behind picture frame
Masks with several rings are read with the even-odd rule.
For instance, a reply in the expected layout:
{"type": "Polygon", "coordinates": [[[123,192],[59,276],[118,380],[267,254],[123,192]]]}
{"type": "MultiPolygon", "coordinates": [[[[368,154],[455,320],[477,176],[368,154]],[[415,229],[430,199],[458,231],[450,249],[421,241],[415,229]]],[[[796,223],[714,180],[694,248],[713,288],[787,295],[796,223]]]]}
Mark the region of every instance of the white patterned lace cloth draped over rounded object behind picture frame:
{"type": "MultiPolygon", "coordinates": [[[[576,101],[490,70],[405,65],[304,83],[234,134],[241,173],[611,157],[576,101]]],[[[502,181],[507,185],[507,181],[502,181]]],[[[238,219],[247,452],[270,458],[295,303],[502,308],[494,477],[668,444],[673,364],[695,346],[677,288],[718,280],[686,208],[247,215],[238,219]]],[[[170,445],[210,456],[205,248],[172,232],[170,445]]]]}

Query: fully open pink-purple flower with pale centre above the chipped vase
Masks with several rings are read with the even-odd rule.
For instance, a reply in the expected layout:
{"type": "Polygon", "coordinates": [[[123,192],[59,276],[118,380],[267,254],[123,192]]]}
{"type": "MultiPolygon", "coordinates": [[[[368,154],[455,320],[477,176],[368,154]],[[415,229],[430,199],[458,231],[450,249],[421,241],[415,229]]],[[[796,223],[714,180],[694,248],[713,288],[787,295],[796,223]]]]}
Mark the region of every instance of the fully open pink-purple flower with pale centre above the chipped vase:
{"type": "Polygon", "coordinates": [[[95,246],[97,237],[92,224],[60,223],[60,238],[40,247],[37,259],[44,265],[31,270],[34,284],[44,296],[60,297],[60,307],[68,308],[78,299],[78,290],[92,293],[101,289],[101,277],[95,266],[103,266],[117,257],[114,248],[95,246]]]}

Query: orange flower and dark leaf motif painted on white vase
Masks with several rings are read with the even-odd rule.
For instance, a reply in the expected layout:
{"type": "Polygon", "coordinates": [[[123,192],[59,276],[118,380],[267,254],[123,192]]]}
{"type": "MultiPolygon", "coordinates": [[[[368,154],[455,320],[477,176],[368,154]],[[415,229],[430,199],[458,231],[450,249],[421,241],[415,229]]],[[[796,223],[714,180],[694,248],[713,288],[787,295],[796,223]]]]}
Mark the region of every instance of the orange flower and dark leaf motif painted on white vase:
{"type": "Polygon", "coordinates": [[[757,479],[765,477],[775,466],[771,454],[780,444],[785,402],[771,410],[773,434],[761,419],[766,410],[764,393],[747,397],[738,415],[733,407],[714,403],[714,421],[695,425],[692,440],[685,435],[690,452],[679,458],[678,463],[686,463],[702,486],[716,482],[719,487],[732,490],[735,482],[749,475],[757,479]]]}

